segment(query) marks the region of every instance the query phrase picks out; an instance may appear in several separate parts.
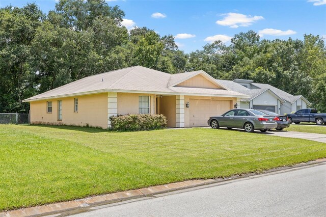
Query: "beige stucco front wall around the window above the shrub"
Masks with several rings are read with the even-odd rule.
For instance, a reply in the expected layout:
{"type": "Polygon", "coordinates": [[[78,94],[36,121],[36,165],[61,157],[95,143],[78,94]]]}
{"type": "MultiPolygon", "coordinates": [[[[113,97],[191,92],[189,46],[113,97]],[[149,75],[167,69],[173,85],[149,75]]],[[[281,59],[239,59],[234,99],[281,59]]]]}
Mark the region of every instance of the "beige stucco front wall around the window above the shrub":
{"type": "Polygon", "coordinates": [[[139,96],[150,96],[150,114],[156,114],[156,95],[139,93],[118,93],[118,114],[138,114],[139,96]]]}

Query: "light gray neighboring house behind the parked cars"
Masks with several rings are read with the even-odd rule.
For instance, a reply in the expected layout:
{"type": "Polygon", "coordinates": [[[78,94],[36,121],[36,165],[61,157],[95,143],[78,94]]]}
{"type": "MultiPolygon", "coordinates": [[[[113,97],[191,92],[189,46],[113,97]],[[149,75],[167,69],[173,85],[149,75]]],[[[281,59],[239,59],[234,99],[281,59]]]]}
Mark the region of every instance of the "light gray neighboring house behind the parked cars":
{"type": "Polygon", "coordinates": [[[250,96],[240,100],[240,108],[269,110],[283,115],[307,108],[310,104],[304,96],[293,96],[271,85],[254,83],[253,80],[218,79],[218,82],[230,90],[250,96]]]}

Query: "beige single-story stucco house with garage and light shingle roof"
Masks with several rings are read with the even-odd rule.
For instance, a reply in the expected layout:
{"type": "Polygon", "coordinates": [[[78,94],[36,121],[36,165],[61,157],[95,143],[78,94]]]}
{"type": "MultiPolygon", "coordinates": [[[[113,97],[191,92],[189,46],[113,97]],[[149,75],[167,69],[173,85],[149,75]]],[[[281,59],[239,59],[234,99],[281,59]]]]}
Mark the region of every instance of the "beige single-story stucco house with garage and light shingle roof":
{"type": "Polygon", "coordinates": [[[169,127],[207,126],[249,97],[204,71],[168,74],[134,66],[85,77],[25,99],[31,123],[110,127],[110,116],[163,114],[169,127]]]}

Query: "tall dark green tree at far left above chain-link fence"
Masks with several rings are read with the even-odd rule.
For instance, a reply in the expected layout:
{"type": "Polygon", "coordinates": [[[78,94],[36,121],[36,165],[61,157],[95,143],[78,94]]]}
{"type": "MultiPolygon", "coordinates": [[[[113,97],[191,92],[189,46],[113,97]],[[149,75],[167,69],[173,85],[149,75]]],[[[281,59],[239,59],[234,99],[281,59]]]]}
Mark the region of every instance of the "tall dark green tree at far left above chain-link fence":
{"type": "Polygon", "coordinates": [[[31,71],[31,42],[44,14],[35,4],[0,9],[0,112],[23,112],[36,93],[31,71]]]}

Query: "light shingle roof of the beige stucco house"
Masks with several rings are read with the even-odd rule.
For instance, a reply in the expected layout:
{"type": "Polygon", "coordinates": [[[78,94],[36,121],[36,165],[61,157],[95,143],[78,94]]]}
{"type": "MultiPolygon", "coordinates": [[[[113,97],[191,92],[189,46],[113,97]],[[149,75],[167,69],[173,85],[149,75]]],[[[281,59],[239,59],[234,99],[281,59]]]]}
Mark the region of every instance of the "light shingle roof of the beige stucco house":
{"type": "MultiPolygon", "coordinates": [[[[247,95],[224,89],[180,88],[170,87],[187,77],[195,76],[204,71],[168,74],[142,66],[128,67],[111,72],[88,76],[59,88],[47,91],[24,101],[47,98],[58,98],[72,95],[83,95],[101,92],[152,92],[166,94],[194,94],[212,96],[232,96],[247,98],[247,95]]],[[[208,74],[206,74],[209,76],[208,74]]]]}

